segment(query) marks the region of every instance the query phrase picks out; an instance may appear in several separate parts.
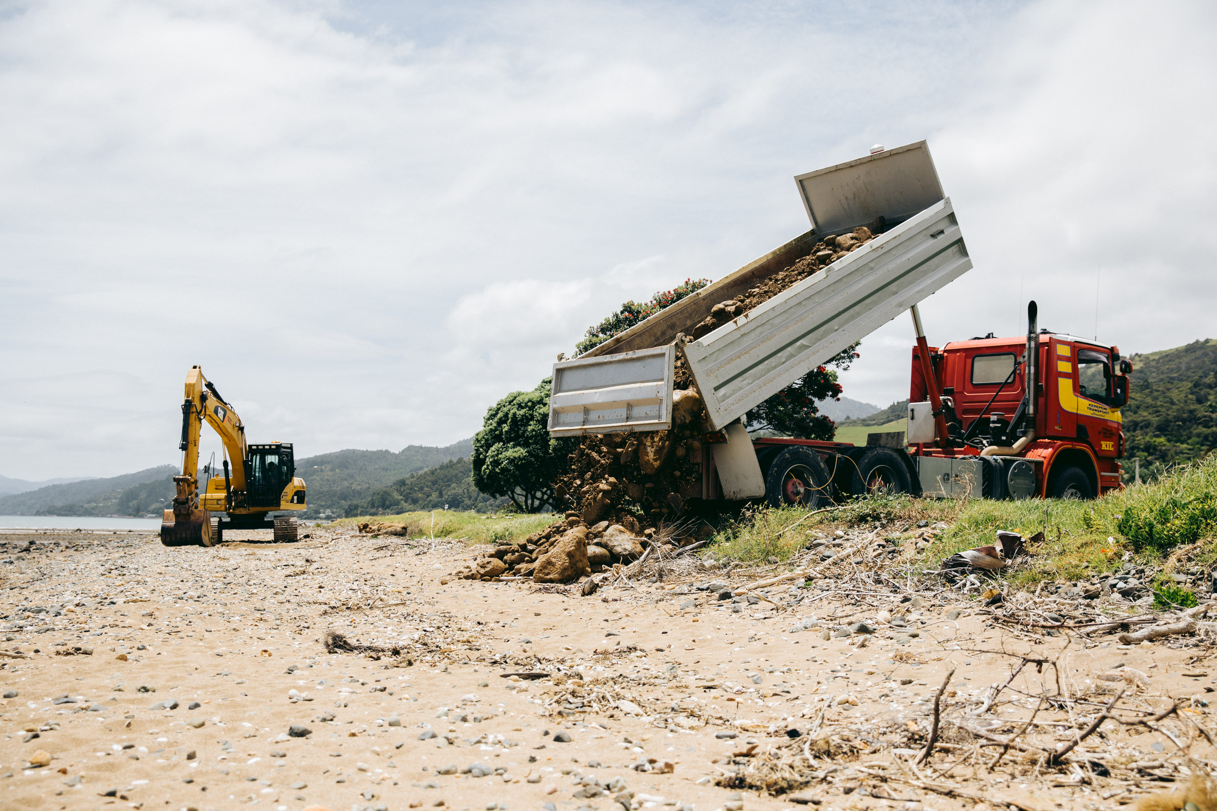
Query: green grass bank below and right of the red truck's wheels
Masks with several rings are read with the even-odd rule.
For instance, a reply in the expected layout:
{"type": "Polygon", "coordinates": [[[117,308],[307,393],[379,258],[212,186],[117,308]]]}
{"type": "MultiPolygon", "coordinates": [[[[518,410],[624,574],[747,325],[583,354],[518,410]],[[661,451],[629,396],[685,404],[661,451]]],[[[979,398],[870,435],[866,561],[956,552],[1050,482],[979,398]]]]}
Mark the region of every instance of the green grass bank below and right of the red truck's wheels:
{"type": "Polygon", "coordinates": [[[876,520],[941,520],[949,529],[925,552],[925,568],[931,568],[961,550],[993,544],[999,529],[1025,537],[1042,531],[1044,540],[1031,550],[1031,565],[1010,575],[1010,581],[1031,586],[1041,580],[1082,580],[1111,571],[1126,552],[1133,552],[1145,563],[1166,561],[1165,569],[1170,569],[1172,550],[1190,544],[1199,545],[1195,554],[1199,564],[1217,563],[1213,494],[1217,494],[1217,456],[1178,467],[1152,484],[1129,486],[1095,501],[877,496],[811,517],[803,509],[757,508],[727,524],[708,547],[714,557],[727,559],[786,561],[807,545],[813,529],[825,533],[876,520]],[[796,526],[800,519],[803,520],[796,526]],[[1146,524],[1151,524],[1149,529],[1146,524]]]}

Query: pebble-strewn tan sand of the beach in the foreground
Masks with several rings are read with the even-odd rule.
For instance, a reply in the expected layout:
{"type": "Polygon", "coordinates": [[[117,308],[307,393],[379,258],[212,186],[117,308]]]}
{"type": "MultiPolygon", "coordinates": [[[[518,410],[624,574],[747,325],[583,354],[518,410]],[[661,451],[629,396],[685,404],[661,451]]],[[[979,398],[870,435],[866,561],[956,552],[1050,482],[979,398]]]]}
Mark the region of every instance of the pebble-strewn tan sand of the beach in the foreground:
{"type": "MultiPolygon", "coordinates": [[[[986,626],[970,603],[955,620],[946,619],[946,607],[927,606],[910,615],[918,636],[882,632],[854,648],[857,638],[790,632],[812,609],[836,615],[834,623],[868,613],[809,602],[814,592],[791,595],[783,610],[762,602],[736,612],[713,593],[663,582],[591,597],[532,584],[441,586],[441,575],[476,550],[312,534],[274,545],[230,533],[230,546],[209,550],[167,548],[138,534],[0,535],[2,649],[23,654],[0,659],[0,691],[17,692],[0,702],[0,807],[396,811],[442,801],[461,811],[492,804],[533,811],[546,802],[622,811],[611,795],[576,796],[574,781],[590,777],[621,778],[615,790],[624,783],[644,809],[731,811],[733,789],[713,784],[723,759],[752,743],[789,740],[786,730],[806,731],[826,694],[858,700],[834,702],[826,725],[924,723],[948,669],[957,668],[952,686],[961,693],[1009,674],[1006,657],[947,648],[1030,646],[986,626]],[[32,607],[50,612],[23,610],[32,607]],[[56,609],[61,615],[50,615],[56,609]],[[327,630],[404,655],[330,654],[327,630]],[[56,655],[72,647],[92,653],[56,655]],[[529,670],[557,678],[503,677],[529,670]],[[581,682],[578,694],[600,691],[632,704],[555,702],[581,682]],[[176,709],[153,708],[161,702],[176,709]],[[310,732],[290,737],[293,725],[310,732]],[[38,737],[27,742],[29,731],[38,737]],[[716,737],[729,732],[736,737],[716,737]],[[570,740],[557,742],[560,733],[570,740]],[[54,760],[27,767],[38,750],[54,760]],[[460,773],[475,764],[492,773],[460,773]],[[640,764],[651,771],[638,771],[640,764]],[[439,773],[449,765],[456,773],[439,773]]],[[[1204,694],[1217,681],[1184,676],[1194,672],[1183,664],[1187,651],[1120,649],[1112,640],[1075,643],[1076,678],[1123,663],[1150,674],[1163,695],[1204,694]]],[[[1051,643],[1036,651],[1051,654],[1051,643]]],[[[1019,685],[1032,682],[1020,676],[1019,685]]],[[[1173,749],[1161,736],[1111,734],[1146,756],[1166,756],[1155,743],[1166,743],[1167,755],[1173,749]]],[[[875,758],[891,755],[849,762],[875,758]]],[[[1015,782],[1002,768],[975,778],[972,790],[1043,809],[1083,807],[1075,805],[1083,800],[1116,807],[1088,788],[1051,785],[1051,773],[1015,782]]],[[[865,796],[853,790],[863,784],[857,777],[843,771],[798,794],[823,809],[904,807],[908,799],[920,802],[908,807],[965,807],[896,783],[887,790],[899,801],[865,796]]],[[[795,807],[790,795],[744,790],[741,800],[746,809],[795,807]]]]}

